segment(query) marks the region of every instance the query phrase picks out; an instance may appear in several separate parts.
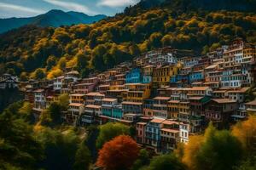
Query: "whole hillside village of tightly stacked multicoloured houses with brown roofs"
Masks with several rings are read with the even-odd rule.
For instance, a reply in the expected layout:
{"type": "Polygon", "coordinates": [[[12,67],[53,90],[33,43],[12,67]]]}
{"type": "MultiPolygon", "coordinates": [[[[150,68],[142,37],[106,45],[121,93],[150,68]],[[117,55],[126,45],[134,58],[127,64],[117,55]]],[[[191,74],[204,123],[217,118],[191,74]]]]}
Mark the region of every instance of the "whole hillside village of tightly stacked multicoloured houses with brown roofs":
{"type": "Polygon", "coordinates": [[[67,68],[52,80],[0,77],[0,88],[20,88],[38,118],[60,94],[69,94],[63,122],[88,126],[120,122],[137,129],[137,143],[169,152],[208,122],[222,129],[256,114],[248,101],[256,79],[256,46],[237,38],[205,56],[159,48],[81,79],[67,68]]]}

